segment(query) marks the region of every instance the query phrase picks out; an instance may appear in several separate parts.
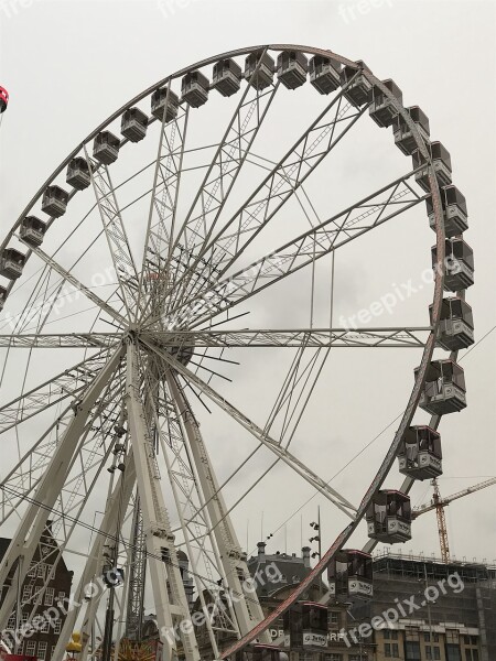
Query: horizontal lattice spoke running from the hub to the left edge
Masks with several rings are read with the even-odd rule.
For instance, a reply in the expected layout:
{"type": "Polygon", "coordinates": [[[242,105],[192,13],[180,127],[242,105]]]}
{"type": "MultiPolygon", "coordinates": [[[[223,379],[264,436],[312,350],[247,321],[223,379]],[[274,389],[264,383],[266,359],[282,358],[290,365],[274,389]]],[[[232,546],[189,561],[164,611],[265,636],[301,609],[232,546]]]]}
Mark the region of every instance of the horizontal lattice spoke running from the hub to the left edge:
{"type": "Polygon", "coordinates": [[[0,348],[15,349],[101,349],[111,348],[121,342],[119,333],[67,333],[60,334],[26,334],[0,335],[0,348]]]}

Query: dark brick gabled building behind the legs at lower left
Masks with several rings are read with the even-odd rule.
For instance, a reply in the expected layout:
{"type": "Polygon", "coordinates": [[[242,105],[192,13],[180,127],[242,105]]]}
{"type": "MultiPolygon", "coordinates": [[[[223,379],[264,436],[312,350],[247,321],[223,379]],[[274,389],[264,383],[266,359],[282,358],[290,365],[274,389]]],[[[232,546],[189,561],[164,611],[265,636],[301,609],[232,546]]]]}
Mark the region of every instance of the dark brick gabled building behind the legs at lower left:
{"type": "MultiPolygon", "coordinates": [[[[10,541],[0,538],[0,559],[7,552],[10,541]]],[[[17,590],[18,606],[9,619],[8,631],[3,635],[4,642],[12,652],[37,657],[39,661],[51,661],[67,614],[67,608],[64,607],[67,605],[65,600],[71,597],[73,572],[67,570],[63,557],[54,566],[54,561],[58,557],[57,549],[52,534],[52,524],[47,521],[25,581],[17,590]],[[42,595],[41,589],[46,579],[48,579],[46,589],[42,595]],[[58,602],[62,603],[62,607],[57,606],[58,602]],[[52,619],[43,615],[47,609],[52,609],[50,611],[52,619]],[[55,616],[55,609],[58,617],[55,616]],[[31,628],[32,635],[25,636],[17,643],[15,631],[29,622],[35,625],[31,628]]],[[[3,602],[8,589],[12,589],[10,583],[3,586],[0,603],[3,602]]]]}

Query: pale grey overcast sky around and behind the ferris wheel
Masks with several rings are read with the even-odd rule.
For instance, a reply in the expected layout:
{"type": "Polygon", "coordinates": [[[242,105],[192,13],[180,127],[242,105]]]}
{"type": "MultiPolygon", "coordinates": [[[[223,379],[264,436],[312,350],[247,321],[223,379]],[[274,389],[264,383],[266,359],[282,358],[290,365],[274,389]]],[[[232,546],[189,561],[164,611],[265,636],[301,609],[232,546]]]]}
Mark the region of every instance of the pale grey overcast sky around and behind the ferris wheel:
{"type": "MultiPolygon", "coordinates": [[[[86,134],[168,74],[216,53],[252,44],[293,43],[331,48],[351,59],[364,59],[380,78],[392,77],[403,90],[405,105],[422,107],[430,118],[431,136],[442,140],[451,152],[454,183],[466,196],[470,212],[465,238],[475,253],[476,284],[467,292],[467,301],[474,308],[476,339],[481,340],[496,324],[495,12],[496,3],[490,0],[0,0],[0,85],[11,95],[0,129],[1,234],[8,231],[48,174],[86,134]]],[[[315,110],[300,107],[298,101],[292,110],[309,112],[305,117],[313,118],[323,102],[317,96],[311,96],[315,110]]],[[[290,120],[283,107],[280,112],[285,130],[284,122],[290,120]]],[[[201,127],[200,115],[195,118],[201,127]]],[[[386,136],[367,121],[374,128],[374,137],[367,129],[364,140],[370,139],[371,147],[357,142],[355,149],[351,145],[349,156],[343,154],[342,161],[336,156],[333,162],[333,173],[343,180],[338,186],[344,191],[343,199],[348,194],[355,194],[357,199],[363,189],[370,189],[367,183],[378,185],[393,178],[387,178],[389,173],[401,172],[398,164],[402,156],[389,131],[386,136]]],[[[200,136],[202,128],[198,131],[200,136]]],[[[276,139],[273,143],[268,140],[263,145],[266,154],[277,160],[283,153],[281,144],[276,139]]],[[[325,195],[321,191],[316,197],[325,214],[325,195]]],[[[409,278],[418,281],[429,267],[434,236],[427,227],[423,209],[419,218],[418,229],[412,225],[408,229],[382,228],[364,252],[351,250],[344,259],[336,258],[336,304],[341,314],[349,315],[368,306],[390,291],[393,282],[409,278]],[[414,254],[421,256],[418,262],[414,254]]],[[[254,316],[241,325],[257,327],[258,319],[279,328],[302,326],[295,308],[308,304],[306,295],[303,285],[282,285],[270,306],[262,304],[258,313],[255,308],[254,316]]],[[[408,307],[395,311],[391,319],[381,318],[377,325],[427,325],[429,302],[424,292],[408,307]]],[[[322,302],[322,318],[325,305],[322,302]]],[[[266,387],[273,402],[290,359],[263,356],[261,360],[238,353],[236,359],[241,366],[228,370],[233,383],[213,382],[260,425],[268,413],[266,400],[270,399],[266,387]]],[[[321,477],[331,478],[401,412],[419,358],[419,354],[413,356],[410,351],[391,357],[332,353],[323,381],[300,424],[293,452],[321,477]]],[[[495,359],[496,332],[463,361],[468,407],[444,418],[440,427],[443,495],[496,474],[495,359]]],[[[75,362],[71,357],[67,360],[69,365],[75,362]]],[[[63,362],[57,358],[56,364],[63,362]]],[[[42,373],[40,366],[33,382],[42,373]]],[[[1,400],[11,397],[15,393],[9,391],[8,381],[3,382],[1,400]]],[[[223,414],[198,415],[213,462],[219,475],[226,476],[255,446],[254,440],[245,433],[238,438],[239,432],[223,414]],[[238,440],[242,441],[241,449],[238,440]]],[[[420,413],[416,420],[425,423],[428,416],[420,413]]],[[[355,502],[367,489],[395,429],[392,424],[333,483],[355,502]]],[[[9,441],[13,443],[12,437],[9,441]]],[[[229,487],[228,501],[236,500],[269,462],[268,453],[260,454],[236,486],[229,487]]],[[[0,463],[0,475],[7,468],[0,463]]],[[[388,486],[396,488],[400,484],[395,468],[388,486]]],[[[492,560],[496,555],[495,492],[493,487],[448,509],[451,551],[457,559],[492,560]]],[[[283,551],[285,544],[289,552],[298,551],[301,517],[305,542],[319,503],[324,545],[331,543],[346,519],[336,516],[323,498],[314,498],[294,513],[312,495],[312,489],[289,469],[278,468],[237,510],[235,524],[241,543],[246,545],[248,531],[248,551],[254,550],[261,534],[263,512],[263,535],[277,531],[268,551],[283,551]]],[[[427,483],[412,491],[413,505],[430,497],[427,483]]],[[[354,543],[364,542],[362,527],[354,543]]],[[[439,555],[434,513],[414,523],[413,539],[402,549],[439,555]]],[[[71,566],[71,561],[67,564],[71,566]]]]}

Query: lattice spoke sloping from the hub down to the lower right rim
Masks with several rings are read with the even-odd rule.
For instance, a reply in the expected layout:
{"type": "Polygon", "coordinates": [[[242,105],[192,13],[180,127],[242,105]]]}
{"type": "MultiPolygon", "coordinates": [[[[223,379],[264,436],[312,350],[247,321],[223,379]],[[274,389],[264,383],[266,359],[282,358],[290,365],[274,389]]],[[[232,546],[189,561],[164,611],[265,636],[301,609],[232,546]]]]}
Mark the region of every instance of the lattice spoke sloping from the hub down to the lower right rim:
{"type": "Polygon", "coordinates": [[[191,384],[194,383],[198,390],[204,393],[208,399],[215,402],[220,409],[223,409],[230,418],[236,420],[242,427],[245,427],[250,434],[252,434],[258,441],[270,449],[276,456],[278,456],[284,464],[288,464],[293,470],[295,470],[303,479],[311,484],[328,500],[334,502],[343,512],[345,512],[352,519],[354,514],[351,511],[355,511],[355,507],[341,496],[335,489],[328,486],[322,478],[315,475],[310,468],[308,468],[300,459],[282,448],[281,445],[271,438],[263,430],[261,430],[255,422],[249,420],[244,413],[230,404],[223,395],[218,394],[211,386],[205,383],[197,375],[184,367],[179,360],[175,360],[171,355],[162,351],[161,349],[149,345],[149,348],[157,353],[163,358],[163,360],[170,364],[175,371],[181,373],[186,381],[191,384]]]}

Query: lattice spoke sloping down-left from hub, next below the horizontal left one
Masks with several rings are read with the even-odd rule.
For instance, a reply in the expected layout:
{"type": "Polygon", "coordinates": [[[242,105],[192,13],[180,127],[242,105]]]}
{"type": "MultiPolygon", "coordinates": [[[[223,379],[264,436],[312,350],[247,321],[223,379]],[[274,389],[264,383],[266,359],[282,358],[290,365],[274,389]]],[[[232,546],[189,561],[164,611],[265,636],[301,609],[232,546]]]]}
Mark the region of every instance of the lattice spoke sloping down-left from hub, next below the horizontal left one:
{"type": "Polygon", "coordinates": [[[100,351],[0,407],[0,434],[69,397],[79,397],[104,369],[107,357],[107,350],[100,351]]]}

